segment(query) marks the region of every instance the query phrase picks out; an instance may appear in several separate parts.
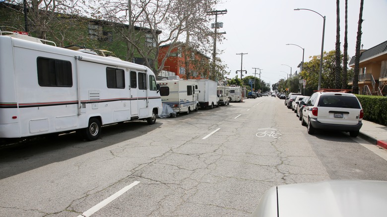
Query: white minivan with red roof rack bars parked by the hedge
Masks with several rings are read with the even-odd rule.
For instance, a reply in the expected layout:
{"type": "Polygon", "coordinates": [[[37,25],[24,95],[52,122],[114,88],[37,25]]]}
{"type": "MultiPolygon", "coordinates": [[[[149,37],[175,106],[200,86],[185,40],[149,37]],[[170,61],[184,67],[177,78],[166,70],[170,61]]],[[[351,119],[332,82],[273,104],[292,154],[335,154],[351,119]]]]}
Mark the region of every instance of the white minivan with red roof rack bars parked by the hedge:
{"type": "Polygon", "coordinates": [[[302,125],[308,125],[308,133],[315,129],[349,132],[352,137],[359,135],[362,127],[363,109],[353,94],[317,92],[309,98],[302,112],[302,125]]]}

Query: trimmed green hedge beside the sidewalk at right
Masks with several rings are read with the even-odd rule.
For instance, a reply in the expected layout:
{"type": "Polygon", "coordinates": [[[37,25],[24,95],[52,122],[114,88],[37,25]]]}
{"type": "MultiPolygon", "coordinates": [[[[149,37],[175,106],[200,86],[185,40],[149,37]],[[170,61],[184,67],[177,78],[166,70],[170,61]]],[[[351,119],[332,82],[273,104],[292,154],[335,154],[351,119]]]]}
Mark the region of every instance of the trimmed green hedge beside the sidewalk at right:
{"type": "Polygon", "coordinates": [[[364,120],[387,126],[387,97],[356,95],[364,111],[364,120]]]}

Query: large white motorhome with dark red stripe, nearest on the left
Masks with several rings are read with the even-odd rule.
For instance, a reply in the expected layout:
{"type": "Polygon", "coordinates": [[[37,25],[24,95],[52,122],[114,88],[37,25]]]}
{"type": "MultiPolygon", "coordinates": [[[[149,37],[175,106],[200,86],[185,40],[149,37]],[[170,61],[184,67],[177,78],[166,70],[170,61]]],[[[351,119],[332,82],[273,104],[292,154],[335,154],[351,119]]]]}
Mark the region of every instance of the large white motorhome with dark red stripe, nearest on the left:
{"type": "Polygon", "coordinates": [[[87,140],[101,126],[161,114],[155,75],[113,57],[0,36],[0,138],[76,130],[87,140]]]}

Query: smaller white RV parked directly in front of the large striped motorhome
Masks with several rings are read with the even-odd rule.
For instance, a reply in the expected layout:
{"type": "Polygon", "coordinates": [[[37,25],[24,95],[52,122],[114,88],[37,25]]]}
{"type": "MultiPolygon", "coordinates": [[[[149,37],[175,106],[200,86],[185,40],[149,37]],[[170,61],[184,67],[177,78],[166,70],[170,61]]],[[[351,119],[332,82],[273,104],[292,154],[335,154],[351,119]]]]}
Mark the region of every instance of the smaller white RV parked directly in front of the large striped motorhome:
{"type": "Polygon", "coordinates": [[[170,106],[177,113],[199,108],[198,83],[196,81],[181,80],[179,76],[169,76],[168,80],[157,81],[160,85],[161,102],[170,106]]]}

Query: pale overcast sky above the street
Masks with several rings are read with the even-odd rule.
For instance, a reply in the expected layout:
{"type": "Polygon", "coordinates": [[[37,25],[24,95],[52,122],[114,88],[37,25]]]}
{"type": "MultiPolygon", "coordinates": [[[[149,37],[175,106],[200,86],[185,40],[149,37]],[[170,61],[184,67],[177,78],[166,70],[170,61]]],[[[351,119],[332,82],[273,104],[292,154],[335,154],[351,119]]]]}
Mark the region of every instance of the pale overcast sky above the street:
{"type": "MultiPolygon", "coordinates": [[[[324,51],[335,49],[336,41],[336,0],[223,0],[215,8],[227,9],[227,14],[218,15],[223,22],[219,32],[226,32],[226,40],[217,44],[224,50],[220,57],[231,71],[227,77],[233,78],[236,70],[241,70],[240,53],[243,55],[243,69],[253,75],[253,67],[261,68],[261,79],[266,83],[278,82],[299,72],[302,49],[304,61],[310,56],[321,54],[323,18],[312,11],[294,10],[307,8],[326,17],[324,51]],[[281,65],[286,64],[286,65],[281,65]],[[281,72],[284,71],[284,72],[281,72]]],[[[344,45],[344,0],[340,0],[340,47],[344,45]]],[[[360,0],[348,0],[348,54],[355,55],[360,0]]],[[[362,44],[370,49],[387,41],[387,0],[365,0],[363,9],[362,44]]],[[[348,60],[349,61],[349,60],[348,60]]],[[[259,72],[259,71],[257,71],[259,72]]],[[[244,74],[245,76],[246,74],[244,74]]],[[[238,73],[240,78],[240,73],[238,73]]],[[[258,75],[257,75],[258,77],[258,75]]]]}

